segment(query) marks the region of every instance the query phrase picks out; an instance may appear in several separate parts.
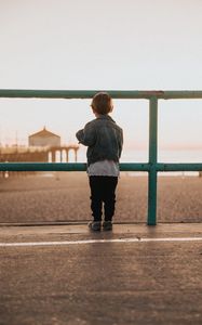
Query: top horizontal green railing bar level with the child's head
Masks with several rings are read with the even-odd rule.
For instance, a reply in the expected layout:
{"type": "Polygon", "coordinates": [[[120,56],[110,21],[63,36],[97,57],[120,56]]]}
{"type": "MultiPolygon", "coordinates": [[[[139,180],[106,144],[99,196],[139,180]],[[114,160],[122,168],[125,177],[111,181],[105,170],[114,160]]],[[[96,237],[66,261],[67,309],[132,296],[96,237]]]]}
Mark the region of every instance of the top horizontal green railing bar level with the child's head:
{"type": "MultiPolygon", "coordinates": [[[[15,99],[91,99],[100,90],[29,90],[29,89],[0,89],[0,98],[15,99]]],[[[162,100],[202,99],[202,91],[162,91],[162,90],[103,90],[113,99],[146,99],[153,96],[162,100]]]]}

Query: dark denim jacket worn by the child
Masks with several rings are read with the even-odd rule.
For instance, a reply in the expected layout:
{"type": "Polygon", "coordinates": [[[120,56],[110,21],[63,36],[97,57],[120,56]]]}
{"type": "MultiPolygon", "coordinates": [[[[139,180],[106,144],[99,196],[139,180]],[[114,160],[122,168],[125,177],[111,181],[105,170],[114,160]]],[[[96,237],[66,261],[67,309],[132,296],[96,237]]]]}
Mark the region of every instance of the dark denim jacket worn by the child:
{"type": "Polygon", "coordinates": [[[123,145],[123,131],[109,115],[100,115],[76,133],[80,143],[87,146],[87,165],[99,160],[119,162],[123,145]]]}

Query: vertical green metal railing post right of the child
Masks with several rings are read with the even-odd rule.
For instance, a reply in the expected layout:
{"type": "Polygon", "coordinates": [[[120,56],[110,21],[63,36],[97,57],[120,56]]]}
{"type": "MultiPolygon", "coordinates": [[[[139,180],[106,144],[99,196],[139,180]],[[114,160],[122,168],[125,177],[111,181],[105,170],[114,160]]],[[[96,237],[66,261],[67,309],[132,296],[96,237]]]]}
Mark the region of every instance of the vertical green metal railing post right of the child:
{"type": "Polygon", "coordinates": [[[158,151],[158,99],[149,100],[149,176],[148,176],[148,225],[157,223],[157,151],[158,151]]]}

